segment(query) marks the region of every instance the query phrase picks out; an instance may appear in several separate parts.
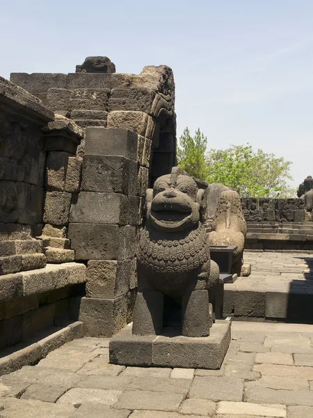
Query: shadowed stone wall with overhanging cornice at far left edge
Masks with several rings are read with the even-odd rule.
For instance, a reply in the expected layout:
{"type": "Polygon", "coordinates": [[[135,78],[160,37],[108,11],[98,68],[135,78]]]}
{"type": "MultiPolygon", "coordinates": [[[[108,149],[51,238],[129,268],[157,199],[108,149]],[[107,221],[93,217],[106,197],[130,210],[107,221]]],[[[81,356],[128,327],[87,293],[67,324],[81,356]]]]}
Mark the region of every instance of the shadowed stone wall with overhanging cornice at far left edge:
{"type": "Polygon", "coordinates": [[[0,77],[0,276],[44,268],[45,151],[41,127],[54,118],[40,100],[0,77]]]}

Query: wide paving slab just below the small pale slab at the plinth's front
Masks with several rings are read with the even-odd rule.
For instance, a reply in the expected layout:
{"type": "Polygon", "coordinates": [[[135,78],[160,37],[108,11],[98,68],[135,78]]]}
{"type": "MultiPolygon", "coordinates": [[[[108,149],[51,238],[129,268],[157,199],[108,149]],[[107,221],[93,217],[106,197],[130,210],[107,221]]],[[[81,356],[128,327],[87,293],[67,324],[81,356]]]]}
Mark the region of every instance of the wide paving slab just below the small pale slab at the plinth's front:
{"type": "Polygon", "coordinates": [[[128,390],[147,390],[151,392],[187,394],[190,386],[190,379],[151,378],[151,376],[138,376],[134,378],[131,383],[129,383],[128,390]]]}

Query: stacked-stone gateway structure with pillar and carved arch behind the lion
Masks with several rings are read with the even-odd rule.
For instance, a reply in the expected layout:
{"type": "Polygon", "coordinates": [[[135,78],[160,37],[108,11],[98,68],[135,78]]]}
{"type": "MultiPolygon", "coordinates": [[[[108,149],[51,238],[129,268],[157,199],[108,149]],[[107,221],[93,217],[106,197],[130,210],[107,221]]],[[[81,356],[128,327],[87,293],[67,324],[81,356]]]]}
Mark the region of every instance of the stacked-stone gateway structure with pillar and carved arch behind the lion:
{"type": "Polygon", "coordinates": [[[149,66],[128,75],[79,68],[68,75],[15,73],[11,80],[61,115],[45,129],[50,148],[40,238],[50,263],[87,266],[79,318],[85,334],[111,336],[132,317],[145,191],[175,165],[172,70],[149,66]],[[62,116],[86,131],[75,153],[62,116]]]}

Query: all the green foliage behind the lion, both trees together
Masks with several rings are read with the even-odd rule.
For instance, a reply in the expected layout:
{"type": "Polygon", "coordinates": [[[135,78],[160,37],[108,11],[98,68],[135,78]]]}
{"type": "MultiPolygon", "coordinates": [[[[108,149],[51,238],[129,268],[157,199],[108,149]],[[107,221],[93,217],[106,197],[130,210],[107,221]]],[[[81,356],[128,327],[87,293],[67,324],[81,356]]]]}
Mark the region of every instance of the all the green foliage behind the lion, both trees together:
{"type": "Polygon", "coordinates": [[[206,155],[207,138],[198,130],[191,137],[188,128],[179,140],[178,160],[191,176],[221,183],[244,197],[292,197],[294,189],[287,184],[291,162],[255,152],[252,146],[231,145],[225,150],[211,149],[206,155]]]}

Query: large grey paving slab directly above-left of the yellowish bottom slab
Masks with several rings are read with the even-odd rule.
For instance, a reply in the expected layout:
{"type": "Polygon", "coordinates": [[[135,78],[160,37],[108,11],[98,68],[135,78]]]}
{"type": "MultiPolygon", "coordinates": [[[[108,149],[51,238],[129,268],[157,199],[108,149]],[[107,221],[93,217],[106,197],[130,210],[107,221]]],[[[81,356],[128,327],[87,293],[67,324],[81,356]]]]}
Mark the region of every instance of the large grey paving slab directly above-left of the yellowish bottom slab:
{"type": "Polygon", "coordinates": [[[195,376],[189,398],[210,399],[211,401],[242,401],[243,380],[231,376],[195,376]]]}

